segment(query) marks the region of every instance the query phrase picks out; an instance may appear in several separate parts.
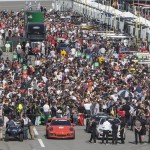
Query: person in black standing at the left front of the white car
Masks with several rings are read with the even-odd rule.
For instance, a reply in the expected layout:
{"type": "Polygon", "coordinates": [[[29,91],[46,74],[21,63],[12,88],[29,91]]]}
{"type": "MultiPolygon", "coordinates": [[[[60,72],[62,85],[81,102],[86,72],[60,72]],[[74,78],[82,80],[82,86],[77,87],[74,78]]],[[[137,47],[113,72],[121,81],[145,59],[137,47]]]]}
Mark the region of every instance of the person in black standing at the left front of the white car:
{"type": "Polygon", "coordinates": [[[91,122],[91,138],[89,140],[89,143],[92,143],[92,140],[94,143],[96,143],[96,121],[93,118],[91,122]]]}

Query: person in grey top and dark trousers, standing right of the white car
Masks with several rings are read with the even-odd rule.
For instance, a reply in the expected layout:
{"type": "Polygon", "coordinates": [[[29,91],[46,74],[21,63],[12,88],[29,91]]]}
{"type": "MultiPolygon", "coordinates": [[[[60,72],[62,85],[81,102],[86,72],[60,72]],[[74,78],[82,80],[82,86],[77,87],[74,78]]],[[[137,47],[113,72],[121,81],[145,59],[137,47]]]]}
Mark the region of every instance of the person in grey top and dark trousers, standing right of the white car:
{"type": "Polygon", "coordinates": [[[138,116],[136,117],[136,120],[134,122],[134,129],[135,129],[135,144],[138,144],[138,136],[139,136],[139,142],[142,143],[141,140],[142,124],[138,116]]]}

